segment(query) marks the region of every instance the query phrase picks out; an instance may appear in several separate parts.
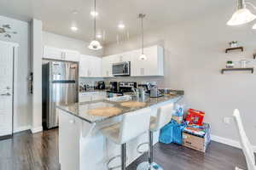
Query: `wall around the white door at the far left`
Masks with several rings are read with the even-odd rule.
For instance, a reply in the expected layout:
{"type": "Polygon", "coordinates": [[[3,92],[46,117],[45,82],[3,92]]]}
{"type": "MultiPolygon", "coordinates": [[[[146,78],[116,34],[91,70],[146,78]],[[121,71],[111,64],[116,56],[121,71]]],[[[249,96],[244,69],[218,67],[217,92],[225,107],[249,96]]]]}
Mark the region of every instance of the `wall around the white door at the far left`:
{"type": "Polygon", "coordinates": [[[8,42],[17,42],[20,44],[18,54],[18,65],[15,67],[18,72],[17,93],[17,112],[14,114],[14,131],[20,131],[31,126],[31,96],[28,93],[27,76],[30,71],[30,25],[29,23],[13,20],[0,16],[0,26],[9,24],[18,33],[12,38],[3,37],[0,34],[0,40],[8,42]]]}

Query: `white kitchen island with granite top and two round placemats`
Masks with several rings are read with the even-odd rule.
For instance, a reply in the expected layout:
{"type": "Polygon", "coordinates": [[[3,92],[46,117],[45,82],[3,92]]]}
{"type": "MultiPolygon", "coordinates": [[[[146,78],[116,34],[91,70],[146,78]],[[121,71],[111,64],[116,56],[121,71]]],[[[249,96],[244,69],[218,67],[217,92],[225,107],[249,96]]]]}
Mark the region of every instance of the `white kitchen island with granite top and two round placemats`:
{"type": "MultiPolygon", "coordinates": [[[[160,98],[101,99],[73,105],[59,105],[57,109],[61,170],[107,170],[108,160],[120,155],[120,146],[104,138],[99,129],[120,122],[124,114],[146,107],[150,107],[152,116],[155,116],[161,105],[175,103],[182,97],[183,92],[175,95],[166,94],[160,98]]],[[[158,142],[158,137],[159,132],[154,133],[154,144],[158,142]]],[[[148,133],[126,144],[127,166],[140,156],[137,153],[137,145],[144,142],[148,142],[148,133]]],[[[120,161],[113,164],[116,166],[120,161]]]]}

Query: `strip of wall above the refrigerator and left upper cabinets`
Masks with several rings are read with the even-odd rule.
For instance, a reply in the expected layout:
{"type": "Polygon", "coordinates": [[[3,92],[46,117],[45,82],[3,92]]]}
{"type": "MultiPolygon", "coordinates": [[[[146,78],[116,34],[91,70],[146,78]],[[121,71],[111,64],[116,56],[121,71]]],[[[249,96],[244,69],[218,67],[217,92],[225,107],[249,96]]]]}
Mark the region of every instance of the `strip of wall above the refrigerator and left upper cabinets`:
{"type": "Polygon", "coordinates": [[[92,51],[88,47],[89,42],[84,42],[71,37],[64,37],[51,32],[43,31],[43,45],[55,48],[67,48],[79,51],[80,54],[102,57],[103,49],[92,51]]]}

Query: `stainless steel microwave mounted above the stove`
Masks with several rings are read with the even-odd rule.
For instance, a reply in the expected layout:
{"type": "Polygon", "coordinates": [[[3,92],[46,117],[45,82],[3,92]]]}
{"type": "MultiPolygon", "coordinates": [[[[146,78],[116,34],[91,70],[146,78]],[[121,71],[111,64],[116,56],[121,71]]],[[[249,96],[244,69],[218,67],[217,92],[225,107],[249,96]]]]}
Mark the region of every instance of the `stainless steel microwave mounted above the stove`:
{"type": "Polygon", "coordinates": [[[112,65],[112,74],[114,77],[129,77],[131,74],[131,61],[114,63],[112,65]]]}

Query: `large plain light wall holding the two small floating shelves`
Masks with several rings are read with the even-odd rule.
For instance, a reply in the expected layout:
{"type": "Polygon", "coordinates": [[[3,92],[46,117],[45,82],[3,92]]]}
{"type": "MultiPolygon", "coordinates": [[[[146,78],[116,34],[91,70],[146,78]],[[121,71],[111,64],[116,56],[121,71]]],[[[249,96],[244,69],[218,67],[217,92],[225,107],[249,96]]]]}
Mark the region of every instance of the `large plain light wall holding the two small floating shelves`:
{"type": "MultiPolygon", "coordinates": [[[[187,107],[206,111],[205,122],[211,124],[212,134],[227,139],[237,140],[238,136],[233,122],[229,126],[224,124],[224,116],[231,116],[234,109],[240,109],[249,139],[256,145],[255,73],[220,74],[228,59],[253,58],[256,31],[251,30],[252,24],[226,26],[232,10],[224,11],[146,32],[145,42],[146,46],[160,44],[165,48],[165,77],[155,79],[160,87],[183,89],[187,107]],[[224,53],[228,42],[233,40],[241,42],[244,53],[224,53]]],[[[140,45],[140,37],[134,37],[129,42],[108,45],[104,55],[140,48],[140,45]]],[[[152,81],[152,78],[135,80],[152,81]]]]}

